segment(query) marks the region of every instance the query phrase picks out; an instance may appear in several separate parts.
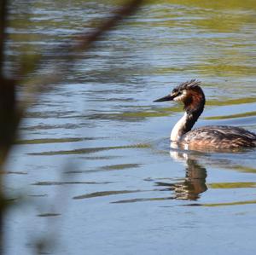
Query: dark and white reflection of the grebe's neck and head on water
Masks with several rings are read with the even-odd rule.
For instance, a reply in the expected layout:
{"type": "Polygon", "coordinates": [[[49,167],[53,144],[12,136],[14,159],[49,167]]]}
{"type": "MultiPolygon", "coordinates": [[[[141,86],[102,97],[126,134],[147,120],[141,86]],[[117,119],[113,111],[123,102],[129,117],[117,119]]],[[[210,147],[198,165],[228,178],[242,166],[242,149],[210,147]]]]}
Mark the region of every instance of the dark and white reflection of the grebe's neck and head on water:
{"type": "Polygon", "coordinates": [[[174,199],[177,200],[197,200],[200,194],[207,190],[206,178],[207,170],[200,165],[189,153],[180,152],[171,148],[170,156],[172,159],[185,163],[186,176],[182,182],[161,183],[157,186],[166,187],[174,192],[174,199]]]}

